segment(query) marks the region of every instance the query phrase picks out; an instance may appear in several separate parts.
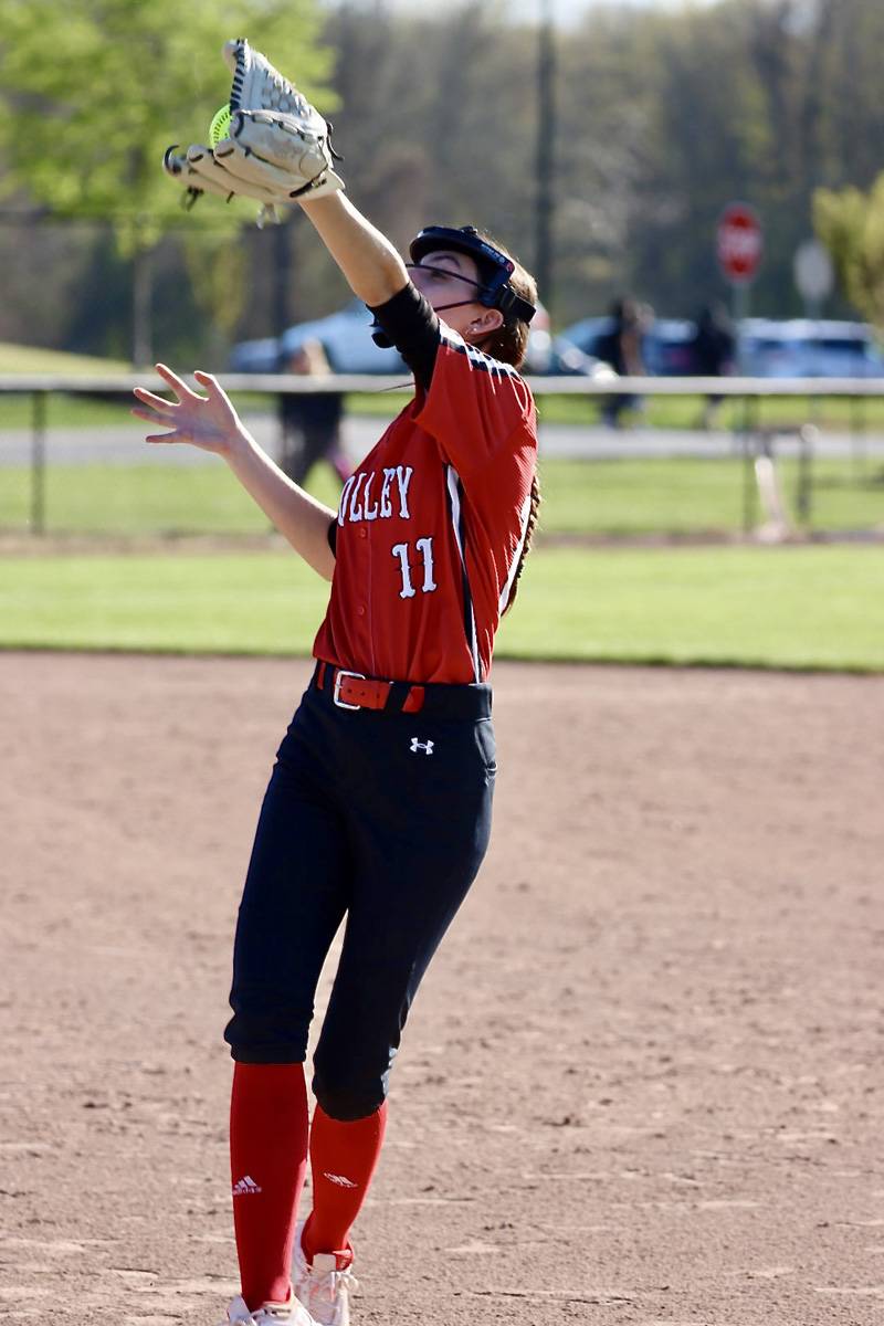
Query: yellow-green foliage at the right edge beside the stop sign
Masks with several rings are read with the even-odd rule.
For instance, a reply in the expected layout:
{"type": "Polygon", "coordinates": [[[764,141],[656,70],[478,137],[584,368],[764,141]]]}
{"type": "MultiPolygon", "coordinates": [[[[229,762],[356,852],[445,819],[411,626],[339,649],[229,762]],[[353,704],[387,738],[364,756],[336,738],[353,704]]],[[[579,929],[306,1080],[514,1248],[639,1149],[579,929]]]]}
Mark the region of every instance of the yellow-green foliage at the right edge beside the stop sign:
{"type": "Polygon", "coordinates": [[[868,194],[854,187],[818,190],[814,224],[847,298],[884,329],[884,174],[868,194]]]}

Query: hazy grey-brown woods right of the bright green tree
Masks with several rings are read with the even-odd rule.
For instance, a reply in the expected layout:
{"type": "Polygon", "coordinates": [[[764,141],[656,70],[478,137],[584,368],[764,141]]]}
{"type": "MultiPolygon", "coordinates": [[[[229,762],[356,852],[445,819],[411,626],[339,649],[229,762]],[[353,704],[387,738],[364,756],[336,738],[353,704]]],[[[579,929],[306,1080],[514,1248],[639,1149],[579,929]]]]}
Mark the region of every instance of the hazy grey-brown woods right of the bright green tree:
{"type": "MultiPolygon", "coordinates": [[[[383,5],[342,5],[327,33],[357,203],[399,243],[428,219],[472,216],[533,264],[537,30],[485,5],[395,21],[383,5]]],[[[737,198],[765,225],[753,310],[802,312],[793,257],[812,191],[867,187],[879,158],[883,41],[880,0],[611,0],[562,30],[555,280],[541,290],[555,322],[600,313],[627,289],[667,316],[725,296],[714,232],[737,198]]]]}

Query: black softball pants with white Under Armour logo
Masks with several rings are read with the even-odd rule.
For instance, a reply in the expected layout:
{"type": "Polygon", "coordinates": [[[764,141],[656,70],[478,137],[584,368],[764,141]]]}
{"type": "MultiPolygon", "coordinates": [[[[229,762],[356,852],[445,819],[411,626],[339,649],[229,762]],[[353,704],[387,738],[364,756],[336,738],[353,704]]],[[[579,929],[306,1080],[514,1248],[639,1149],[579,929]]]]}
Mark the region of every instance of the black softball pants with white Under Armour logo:
{"type": "Polygon", "coordinates": [[[379,1109],[415,992],[485,855],[494,774],[488,686],[428,686],[424,708],[402,713],[341,708],[330,683],[311,683],[277,752],[240,906],[235,1059],[304,1062],[346,916],[313,1091],[334,1119],[379,1109]]]}

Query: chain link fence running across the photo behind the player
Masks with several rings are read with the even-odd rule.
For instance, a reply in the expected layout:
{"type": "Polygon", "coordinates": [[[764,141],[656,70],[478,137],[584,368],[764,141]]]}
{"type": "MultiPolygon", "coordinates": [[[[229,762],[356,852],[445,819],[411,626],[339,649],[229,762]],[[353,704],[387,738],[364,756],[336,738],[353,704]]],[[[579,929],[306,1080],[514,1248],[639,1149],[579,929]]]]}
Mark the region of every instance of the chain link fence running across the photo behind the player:
{"type": "MultiPolygon", "coordinates": [[[[400,379],[378,377],[223,381],[280,460],[285,399],[342,395],[351,464],[406,399],[392,394],[400,379]]],[[[163,390],[152,375],[0,378],[0,533],[34,546],[49,536],[270,537],[216,456],[144,444],[144,427],[129,415],[137,383],[163,390]]],[[[531,386],[547,540],[884,536],[884,383],[537,378],[531,386]],[[655,428],[636,414],[631,427],[604,427],[604,400],[616,394],[656,414],[661,402],[696,402],[697,418],[709,396],[721,396],[722,426],[655,428]]],[[[306,487],[337,505],[331,464],[317,464],[306,487]]]]}

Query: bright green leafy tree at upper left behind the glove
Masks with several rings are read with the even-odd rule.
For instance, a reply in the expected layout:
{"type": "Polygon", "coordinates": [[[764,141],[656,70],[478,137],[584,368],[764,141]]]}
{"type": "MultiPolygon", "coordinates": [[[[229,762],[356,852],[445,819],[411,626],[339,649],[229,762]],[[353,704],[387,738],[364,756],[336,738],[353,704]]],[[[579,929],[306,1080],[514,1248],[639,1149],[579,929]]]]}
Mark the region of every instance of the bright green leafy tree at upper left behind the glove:
{"type": "MultiPolygon", "coordinates": [[[[319,24],[315,0],[228,0],[223,8],[191,0],[186,13],[174,0],[0,0],[3,184],[27,188],[56,216],[110,221],[133,263],[137,363],[150,359],[151,253],[182,219],[163,151],[174,141],[204,141],[229,95],[220,49],[240,32],[327,106],[331,53],[318,42],[319,24]]],[[[254,207],[215,203],[200,202],[192,229],[221,251],[254,207]]],[[[212,317],[233,321],[241,280],[208,282],[203,267],[200,281],[212,317]]]]}

